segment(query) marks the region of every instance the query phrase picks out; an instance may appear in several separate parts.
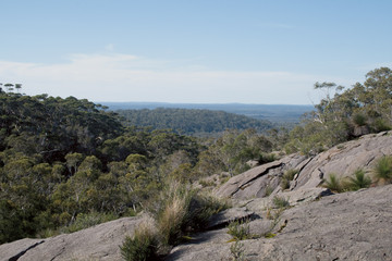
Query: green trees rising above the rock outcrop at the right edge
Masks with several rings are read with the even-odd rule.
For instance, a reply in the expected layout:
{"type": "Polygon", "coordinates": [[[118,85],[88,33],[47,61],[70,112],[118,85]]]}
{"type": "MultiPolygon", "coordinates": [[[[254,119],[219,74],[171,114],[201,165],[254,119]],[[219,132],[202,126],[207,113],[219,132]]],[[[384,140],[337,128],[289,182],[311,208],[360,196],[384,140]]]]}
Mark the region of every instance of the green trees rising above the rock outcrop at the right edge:
{"type": "MultiPolygon", "coordinates": [[[[391,129],[392,70],[380,67],[366,75],[365,83],[351,89],[334,83],[316,83],[324,98],[315,111],[305,115],[302,126],[290,133],[284,146],[287,153],[301,151],[315,156],[323,149],[355,138],[357,126],[377,133],[391,129]]],[[[359,134],[363,135],[363,134],[359,134]]]]}

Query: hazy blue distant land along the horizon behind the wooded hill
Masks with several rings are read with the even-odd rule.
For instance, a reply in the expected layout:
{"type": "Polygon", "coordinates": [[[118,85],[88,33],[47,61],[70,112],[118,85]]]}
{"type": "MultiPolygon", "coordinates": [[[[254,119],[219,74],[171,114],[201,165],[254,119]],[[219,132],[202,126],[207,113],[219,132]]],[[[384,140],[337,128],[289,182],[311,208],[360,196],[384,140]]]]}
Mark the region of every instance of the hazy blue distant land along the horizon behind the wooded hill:
{"type": "Polygon", "coordinates": [[[268,120],[278,124],[298,123],[305,112],[314,110],[314,105],[287,104],[243,104],[243,103],[164,103],[164,102],[100,102],[110,110],[154,110],[157,108],[199,109],[224,111],[242,114],[253,119],[268,120]]]}

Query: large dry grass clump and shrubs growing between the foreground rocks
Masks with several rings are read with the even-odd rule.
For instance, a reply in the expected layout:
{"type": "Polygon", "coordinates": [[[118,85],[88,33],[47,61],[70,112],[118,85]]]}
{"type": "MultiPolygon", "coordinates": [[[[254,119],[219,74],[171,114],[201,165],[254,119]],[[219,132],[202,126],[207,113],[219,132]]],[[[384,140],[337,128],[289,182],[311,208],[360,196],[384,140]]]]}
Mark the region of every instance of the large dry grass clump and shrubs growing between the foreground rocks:
{"type": "Polygon", "coordinates": [[[188,186],[172,182],[147,209],[154,222],[140,226],[121,247],[125,260],[155,260],[203,229],[208,219],[226,206],[188,186]],[[151,228],[156,227],[156,228],[151,228]]]}

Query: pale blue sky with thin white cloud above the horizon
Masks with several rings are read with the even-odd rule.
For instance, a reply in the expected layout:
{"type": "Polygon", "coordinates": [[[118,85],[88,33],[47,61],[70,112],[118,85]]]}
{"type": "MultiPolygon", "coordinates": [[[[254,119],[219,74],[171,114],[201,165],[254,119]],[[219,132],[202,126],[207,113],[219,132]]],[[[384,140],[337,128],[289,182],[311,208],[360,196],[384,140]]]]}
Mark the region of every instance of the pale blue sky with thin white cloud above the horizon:
{"type": "Polygon", "coordinates": [[[390,0],[0,0],[0,83],[95,102],[315,104],[392,67],[390,0]]]}

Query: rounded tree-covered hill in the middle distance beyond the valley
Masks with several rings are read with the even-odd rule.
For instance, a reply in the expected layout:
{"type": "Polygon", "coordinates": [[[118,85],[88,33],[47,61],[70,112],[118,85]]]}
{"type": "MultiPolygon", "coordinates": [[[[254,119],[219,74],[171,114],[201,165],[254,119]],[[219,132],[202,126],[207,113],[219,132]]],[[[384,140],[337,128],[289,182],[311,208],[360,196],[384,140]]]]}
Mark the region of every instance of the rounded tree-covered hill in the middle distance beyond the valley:
{"type": "Polygon", "coordinates": [[[266,132],[272,123],[223,111],[158,108],[155,110],[118,110],[127,126],[150,126],[154,129],[171,128],[184,135],[211,136],[226,129],[254,128],[266,132]]]}

